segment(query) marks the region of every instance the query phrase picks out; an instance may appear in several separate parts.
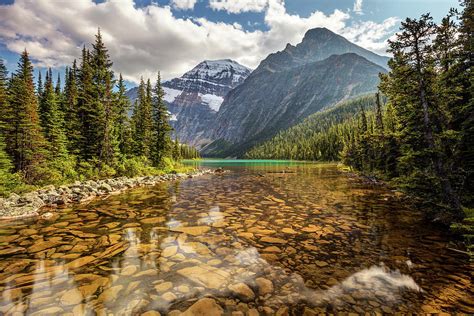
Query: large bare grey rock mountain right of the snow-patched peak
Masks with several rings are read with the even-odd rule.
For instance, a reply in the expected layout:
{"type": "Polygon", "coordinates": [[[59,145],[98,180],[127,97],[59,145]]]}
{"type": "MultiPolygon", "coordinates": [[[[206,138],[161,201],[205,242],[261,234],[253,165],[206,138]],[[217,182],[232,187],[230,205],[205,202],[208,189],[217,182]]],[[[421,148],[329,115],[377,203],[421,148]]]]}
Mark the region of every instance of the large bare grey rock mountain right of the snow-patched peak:
{"type": "Polygon", "coordinates": [[[202,152],[242,156],[312,113],[375,91],[387,61],[325,28],[309,30],[229,92],[209,136],[214,141],[202,152]]]}

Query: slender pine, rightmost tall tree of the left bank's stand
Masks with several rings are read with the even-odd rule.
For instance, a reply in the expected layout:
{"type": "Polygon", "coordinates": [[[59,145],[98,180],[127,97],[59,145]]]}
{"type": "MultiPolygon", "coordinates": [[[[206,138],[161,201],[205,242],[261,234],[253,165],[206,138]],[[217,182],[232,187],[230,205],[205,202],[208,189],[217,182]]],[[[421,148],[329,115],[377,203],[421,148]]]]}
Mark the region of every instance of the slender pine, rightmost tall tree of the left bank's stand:
{"type": "Polygon", "coordinates": [[[158,73],[155,87],[153,89],[152,113],[153,113],[153,142],[152,142],[152,162],[154,166],[159,166],[164,157],[171,156],[172,131],[169,124],[169,114],[163,100],[165,93],[161,87],[161,76],[158,73]]]}

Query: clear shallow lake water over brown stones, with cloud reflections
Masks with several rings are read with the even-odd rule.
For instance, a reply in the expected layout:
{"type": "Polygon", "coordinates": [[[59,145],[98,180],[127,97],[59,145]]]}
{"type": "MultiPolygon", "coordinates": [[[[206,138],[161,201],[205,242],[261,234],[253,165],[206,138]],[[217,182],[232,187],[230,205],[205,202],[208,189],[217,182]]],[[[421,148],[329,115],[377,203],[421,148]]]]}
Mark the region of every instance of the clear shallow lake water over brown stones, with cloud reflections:
{"type": "Polygon", "coordinates": [[[474,312],[472,265],[394,193],[332,165],[226,168],[2,224],[0,313],[474,312]]]}

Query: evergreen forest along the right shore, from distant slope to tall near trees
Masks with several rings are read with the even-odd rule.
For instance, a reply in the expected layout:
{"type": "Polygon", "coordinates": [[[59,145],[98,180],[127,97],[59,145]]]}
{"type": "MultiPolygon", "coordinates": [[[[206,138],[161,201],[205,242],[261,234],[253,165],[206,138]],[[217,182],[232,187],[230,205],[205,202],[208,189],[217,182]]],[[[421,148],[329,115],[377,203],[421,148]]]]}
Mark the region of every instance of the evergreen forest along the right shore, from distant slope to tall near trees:
{"type": "Polygon", "coordinates": [[[439,25],[429,14],[402,22],[376,96],[315,114],[247,156],[342,160],[422,198],[436,220],[462,218],[474,204],[474,10],[462,4],[439,25]]]}

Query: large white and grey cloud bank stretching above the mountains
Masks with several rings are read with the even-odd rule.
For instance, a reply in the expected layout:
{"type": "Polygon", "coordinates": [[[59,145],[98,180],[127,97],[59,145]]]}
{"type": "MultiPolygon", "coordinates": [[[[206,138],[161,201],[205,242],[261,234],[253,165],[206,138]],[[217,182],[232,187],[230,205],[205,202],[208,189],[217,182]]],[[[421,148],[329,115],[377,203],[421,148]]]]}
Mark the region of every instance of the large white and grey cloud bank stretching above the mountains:
{"type": "MultiPolygon", "coordinates": [[[[229,1],[230,2],[230,1],[229,1]]],[[[286,43],[297,44],[314,27],[326,27],[363,47],[383,51],[396,22],[350,24],[347,12],[289,14],[283,0],[267,0],[266,30],[248,31],[238,23],[178,18],[172,6],[135,6],[133,0],[94,3],[17,0],[0,5],[0,41],[17,53],[25,48],[37,65],[61,67],[80,57],[82,45],[100,27],[114,70],[138,82],[161,70],[165,79],[183,74],[204,59],[231,58],[255,68],[286,43]]]]}

